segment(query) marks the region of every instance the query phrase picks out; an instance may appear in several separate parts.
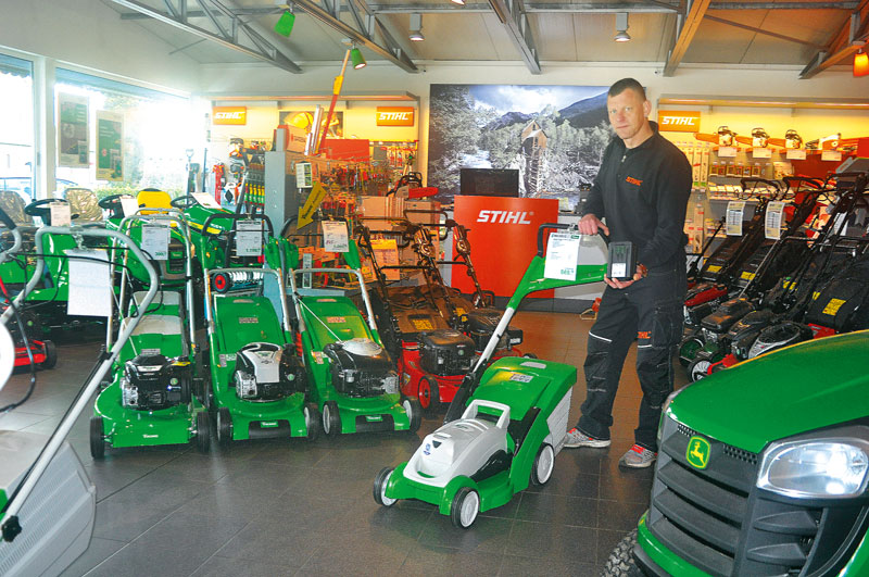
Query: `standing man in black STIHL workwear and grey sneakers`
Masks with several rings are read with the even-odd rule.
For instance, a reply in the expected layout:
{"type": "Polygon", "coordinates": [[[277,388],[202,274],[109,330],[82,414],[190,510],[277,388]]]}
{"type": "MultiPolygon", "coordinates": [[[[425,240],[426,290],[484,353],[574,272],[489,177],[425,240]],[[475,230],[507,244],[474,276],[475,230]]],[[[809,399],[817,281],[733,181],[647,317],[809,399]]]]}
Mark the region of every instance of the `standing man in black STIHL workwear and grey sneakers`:
{"type": "Polygon", "coordinates": [[[579,231],[631,241],[638,251],[630,280],[605,278],[597,321],[589,331],[584,372],[588,396],[565,447],[608,447],[613,401],[634,339],[643,390],[634,446],[619,460],[647,467],[657,456],[660,407],[672,391],[672,352],[682,336],[685,296],[684,226],[691,193],[685,155],[648,121],[642,85],[625,78],[609,88],[609,123],[618,138],[604,152],[579,221],[579,231]],[[606,224],[601,219],[606,218],[606,224]]]}

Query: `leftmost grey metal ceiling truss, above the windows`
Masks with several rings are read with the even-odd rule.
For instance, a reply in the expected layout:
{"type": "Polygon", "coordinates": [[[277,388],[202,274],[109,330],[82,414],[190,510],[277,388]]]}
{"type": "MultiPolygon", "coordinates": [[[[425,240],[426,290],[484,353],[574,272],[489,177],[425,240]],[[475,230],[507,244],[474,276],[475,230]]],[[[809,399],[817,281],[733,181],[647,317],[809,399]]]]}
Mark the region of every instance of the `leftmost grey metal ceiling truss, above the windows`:
{"type": "MultiPolygon", "coordinates": [[[[230,35],[224,35],[223,27],[221,27],[221,34],[214,34],[209,32],[204,28],[190,24],[186,17],[184,17],[186,7],[186,0],[181,0],[180,7],[175,8],[172,10],[172,14],[160,12],[151,7],[148,7],[140,2],[139,0],[112,0],[114,3],[119,4],[124,8],[128,8],[130,10],[135,10],[140,14],[144,14],[148,17],[162,22],[164,24],[168,24],[171,26],[175,26],[181,30],[190,33],[192,35],[199,36],[200,38],[204,38],[206,40],[211,40],[216,42],[221,46],[235,50],[237,52],[241,52],[242,54],[247,54],[249,57],[255,58],[257,60],[262,60],[268,62],[269,64],[282,68],[287,72],[291,72],[293,74],[299,74],[302,72],[294,62],[284,55],[275,46],[269,43],[262,37],[256,30],[250,27],[247,23],[243,23],[238,20],[231,21],[232,29],[242,30],[245,36],[254,43],[254,47],[243,46],[238,42],[237,38],[232,38],[230,35]],[[177,14],[177,16],[175,15],[177,14]]],[[[165,0],[166,5],[172,5],[169,0],[165,0]]],[[[204,2],[207,0],[199,0],[200,2],[204,2]]],[[[202,4],[200,4],[202,5],[202,4]]]]}

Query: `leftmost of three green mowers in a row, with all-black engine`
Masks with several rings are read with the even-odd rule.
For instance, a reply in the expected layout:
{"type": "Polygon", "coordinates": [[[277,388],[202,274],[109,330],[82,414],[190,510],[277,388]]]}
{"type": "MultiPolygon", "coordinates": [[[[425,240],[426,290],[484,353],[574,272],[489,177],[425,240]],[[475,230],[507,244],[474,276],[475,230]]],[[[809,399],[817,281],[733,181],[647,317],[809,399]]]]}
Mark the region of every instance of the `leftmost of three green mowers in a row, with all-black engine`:
{"type": "MultiPolygon", "coordinates": [[[[106,443],[122,448],[179,444],[191,440],[199,451],[207,452],[209,415],[193,396],[193,384],[203,382],[203,375],[197,374],[196,368],[203,369],[196,340],[193,256],[187,225],[180,215],[149,214],[127,217],[121,228],[133,228],[134,223],[176,226],[173,231],[184,240],[186,281],[181,290],[177,290],[172,279],[161,278],[156,297],[146,306],[144,291],[133,292],[127,298],[128,267],[122,268],[121,330],[131,318],[138,317],[139,322],[112,366],[109,385],[93,404],[90,453],[93,459],[102,459],[106,443]]],[[[138,230],[140,240],[141,229],[138,226],[130,233],[138,230]]],[[[134,242],[138,243],[136,239],[134,242]]],[[[127,253],[124,254],[126,263],[127,253]]],[[[161,272],[164,269],[161,267],[161,272]]],[[[112,347],[112,334],[113,325],[109,323],[106,350],[112,347]]],[[[201,397],[203,389],[201,386],[198,389],[201,397]]]]}

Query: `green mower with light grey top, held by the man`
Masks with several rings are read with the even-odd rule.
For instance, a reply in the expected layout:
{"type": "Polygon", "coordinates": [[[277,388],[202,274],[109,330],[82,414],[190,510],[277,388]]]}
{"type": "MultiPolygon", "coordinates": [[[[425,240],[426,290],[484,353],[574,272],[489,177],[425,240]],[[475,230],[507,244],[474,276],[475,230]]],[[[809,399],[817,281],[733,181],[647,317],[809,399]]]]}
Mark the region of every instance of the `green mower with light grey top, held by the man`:
{"type": "MultiPolygon", "coordinates": [[[[438,505],[454,526],[468,528],[477,515],[506,504],[529,484],[549,481],[564,447],[575,366],[506,356],[489,361],[521,300],[529,293],[603,280],[606,265],[576,265],[569,280],[546,278],[543,236],[516,292],[482,355],[465,376],[444,425],[428,435],[407,463],[386,467],[374,482],[374,499],[391,506],[399,499],[438,505]]],[[[568,231],[579,242],[576,227],[568,231]]]]}

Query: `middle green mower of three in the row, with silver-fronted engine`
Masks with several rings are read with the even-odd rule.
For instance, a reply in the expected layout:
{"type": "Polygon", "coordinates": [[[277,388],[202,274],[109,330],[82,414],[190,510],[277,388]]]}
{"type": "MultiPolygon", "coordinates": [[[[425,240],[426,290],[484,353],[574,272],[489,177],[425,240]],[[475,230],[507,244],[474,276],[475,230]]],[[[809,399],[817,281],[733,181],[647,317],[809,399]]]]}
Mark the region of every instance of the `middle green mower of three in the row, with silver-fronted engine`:
{"type": "MultiPolygon", "coordinates": [[[[281,244],[268,239],[266,250],[281,244]]],[[[216,416],[218,443],[315,439],[319,421],[316,407],[305,403],[307,379],[292,343],[284,269],[206,268],[204,277],[211,362],[205,398],[216,416]]]]}

